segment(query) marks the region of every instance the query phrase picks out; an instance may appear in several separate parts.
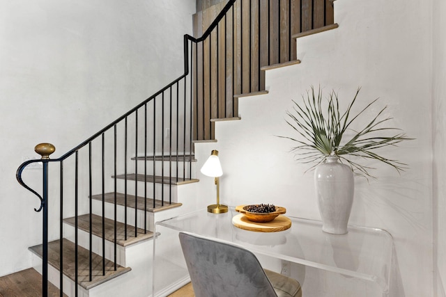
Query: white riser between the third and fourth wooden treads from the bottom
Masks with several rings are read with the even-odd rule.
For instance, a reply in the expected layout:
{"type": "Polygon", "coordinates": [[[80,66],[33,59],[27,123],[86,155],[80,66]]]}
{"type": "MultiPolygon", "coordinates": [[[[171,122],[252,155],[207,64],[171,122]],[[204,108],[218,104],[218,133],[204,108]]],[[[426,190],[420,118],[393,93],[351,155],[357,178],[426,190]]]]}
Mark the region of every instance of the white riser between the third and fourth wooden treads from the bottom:
{"type": "MultiPolygon", "coordinates": [[[[177,186],[169,184],[153,184],[153,183],[144,183],[144,182],[137,182],[135,183],[134,180],[128,180],[127,181],[127,193],[129,195],[134,195],[135,192],[139,197],[144,197],[147,193],[147,198],[153,198],[153,188],[155,188],[155,199],[161,200],[161,198],[164,196],[164,201],[169,202],[169,198],[171,198],[172,202],[177,202],[177,186]],[[145,189],[146,186],[146,189],[145,189]],[[135,191],[135,189],[137,191],[135,191]]],[[[118,193],[125,193],[125,180],[124,179],[117,179],[116,189],[118,193]]]]}

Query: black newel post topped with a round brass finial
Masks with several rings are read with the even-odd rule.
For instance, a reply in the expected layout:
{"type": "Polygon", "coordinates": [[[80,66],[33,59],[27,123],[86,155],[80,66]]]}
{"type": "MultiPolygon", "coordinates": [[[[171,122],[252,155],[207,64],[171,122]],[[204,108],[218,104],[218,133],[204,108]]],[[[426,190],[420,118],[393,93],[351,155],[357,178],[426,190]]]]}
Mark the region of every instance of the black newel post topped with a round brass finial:
{"type": "Polygon", "coordinates": [[[56,150],[51,143],[39,143],[34,151],[42,156],[43,163],[43,259],[42,259],[42,296],[48,296],[48,160],[56,150]]]}

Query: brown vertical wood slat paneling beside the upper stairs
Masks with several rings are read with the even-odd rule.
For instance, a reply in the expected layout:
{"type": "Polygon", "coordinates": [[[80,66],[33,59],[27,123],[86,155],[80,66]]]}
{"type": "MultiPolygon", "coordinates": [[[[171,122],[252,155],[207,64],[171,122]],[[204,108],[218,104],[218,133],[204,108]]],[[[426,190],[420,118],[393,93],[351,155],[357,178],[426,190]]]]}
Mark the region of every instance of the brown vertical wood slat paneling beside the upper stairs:
{"type": "MultiPolygon", "coordinates": [[[[202,32],[227,3],[215,1],[218,3],[214,5],[203,0],[203,6],[213,6],[203,10],[201,23],[194,21],[202,32]]],[[[332,24],[333,20],[330,0],[236,1],[210,38],[196,49],[199,62],[194,64],[194,109],[198,121],[195,139],[214,138],[210,119],[238,116],[238,97],[234,95],[265,88],[261,67],[297,60],[292,35],[332,24]]]]}

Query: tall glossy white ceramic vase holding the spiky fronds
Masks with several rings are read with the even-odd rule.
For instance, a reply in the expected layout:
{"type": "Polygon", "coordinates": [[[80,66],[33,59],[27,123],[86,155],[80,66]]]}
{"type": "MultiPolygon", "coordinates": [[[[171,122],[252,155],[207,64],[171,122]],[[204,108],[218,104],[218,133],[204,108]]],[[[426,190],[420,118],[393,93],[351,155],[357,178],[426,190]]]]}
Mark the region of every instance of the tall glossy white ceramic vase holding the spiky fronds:
{"type": "Polygon", "coordinates": [[[322,230],[331,234],[346,234],[355,191],[353,171],[340,163],[338,156],[328,156],[324,163],[316,167],[314,182],[322,230]]]}

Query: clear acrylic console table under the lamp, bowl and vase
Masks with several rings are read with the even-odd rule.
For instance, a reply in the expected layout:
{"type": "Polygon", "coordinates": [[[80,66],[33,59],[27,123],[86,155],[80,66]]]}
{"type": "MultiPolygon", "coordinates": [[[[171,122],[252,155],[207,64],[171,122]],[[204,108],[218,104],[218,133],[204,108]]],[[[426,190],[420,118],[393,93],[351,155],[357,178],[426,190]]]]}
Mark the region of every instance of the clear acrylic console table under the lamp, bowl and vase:
{"type": "Polygon", "coordinates": [[[232,224],[233,216],[238,214],[233,207],[226,214],[201,209],[157,222],[153,296],[165,296],[175,284],[178,287],[188,281],[178,240],[181,231],[236,243],[260,258],[300,264],[307,269],[303,275],[298,273],[304,278],[298,281],[307,296],[389,296],[393,251],[389,232],[349,226],[348,234],[333,235],[323,232],[319,221],[291,216],[289,230],[252,232],[232,224]]]}

